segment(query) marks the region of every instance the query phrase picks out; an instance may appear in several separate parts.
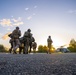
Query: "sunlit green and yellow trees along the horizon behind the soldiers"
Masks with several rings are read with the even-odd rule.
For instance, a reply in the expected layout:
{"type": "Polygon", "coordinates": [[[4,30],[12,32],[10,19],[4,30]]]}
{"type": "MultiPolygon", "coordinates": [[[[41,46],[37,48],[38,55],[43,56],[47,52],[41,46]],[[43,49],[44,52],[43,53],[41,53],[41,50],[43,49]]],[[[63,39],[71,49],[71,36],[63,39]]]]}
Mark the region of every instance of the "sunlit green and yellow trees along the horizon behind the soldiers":
{"type": "MultiPolygon", "coordinates": [[[[70,52],[76,52],[76,40],[71,39],[69,42],[69,46],[67,47],[70,52]]],[[[39,45],[38,51],[40,53],[46,53],[48,50],[48,47],[46,45],[39,45]]],[[[4,45],[0,44],[0,52],[7,52],[7,48],[4,47],[4,45]]],[[[55,52],[55,47],[52,45],[51,52],[55,52]]]]}

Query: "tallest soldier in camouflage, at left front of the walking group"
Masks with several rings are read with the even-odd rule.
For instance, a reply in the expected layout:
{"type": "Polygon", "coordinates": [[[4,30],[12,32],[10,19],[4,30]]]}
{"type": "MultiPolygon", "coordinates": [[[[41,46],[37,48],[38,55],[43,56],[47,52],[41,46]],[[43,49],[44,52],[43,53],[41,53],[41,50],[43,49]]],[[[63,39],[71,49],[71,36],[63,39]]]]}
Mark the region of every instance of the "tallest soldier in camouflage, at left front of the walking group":
{"type": "Polygon", "coordinates": [[[12,32],[12,36],[13,36],[13,52],[14,54],[16,53],[16,49],[19,48],[20,46],[20,41],[19,41],[19,37],[21,36],[21,31],[19,30],[19,27],[16,27],[16,29],[12,32]]]}

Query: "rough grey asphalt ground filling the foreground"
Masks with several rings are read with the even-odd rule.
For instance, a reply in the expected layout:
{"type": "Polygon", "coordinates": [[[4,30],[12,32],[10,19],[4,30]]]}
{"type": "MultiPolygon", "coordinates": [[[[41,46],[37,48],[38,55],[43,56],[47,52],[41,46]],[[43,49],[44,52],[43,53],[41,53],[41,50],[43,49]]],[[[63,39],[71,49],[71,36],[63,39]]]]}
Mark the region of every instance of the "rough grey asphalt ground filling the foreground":
{"type": "Polygon", "coordinates": [[[76,75],[76,53],[1,53],[0,75],[76,75]]]}

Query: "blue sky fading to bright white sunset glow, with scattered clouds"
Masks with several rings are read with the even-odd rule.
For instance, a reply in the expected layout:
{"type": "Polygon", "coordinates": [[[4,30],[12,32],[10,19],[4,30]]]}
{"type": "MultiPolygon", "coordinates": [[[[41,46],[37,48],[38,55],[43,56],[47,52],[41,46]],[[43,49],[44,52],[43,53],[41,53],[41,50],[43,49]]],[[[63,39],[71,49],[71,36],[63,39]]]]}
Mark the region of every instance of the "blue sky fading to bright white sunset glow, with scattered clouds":
{"type": "Polygon", "coordinates": [[[0,0],[0,44],[10,46],[16,26],[22,36],[30,28],[38,45],[47,45],[49,35],[54,47],[67,45],[76,40],[76,0],[0,0]]]}

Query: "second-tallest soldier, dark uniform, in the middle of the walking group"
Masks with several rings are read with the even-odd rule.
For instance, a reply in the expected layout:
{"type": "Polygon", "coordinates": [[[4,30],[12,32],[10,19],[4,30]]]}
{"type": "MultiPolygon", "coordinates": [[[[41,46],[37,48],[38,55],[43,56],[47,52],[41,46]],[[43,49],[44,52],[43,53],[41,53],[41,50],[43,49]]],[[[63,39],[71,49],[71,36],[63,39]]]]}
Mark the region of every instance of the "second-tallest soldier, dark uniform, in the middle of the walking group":
{"type": "Polygon", "coordinates": [[[24,40],[24,51],[23,51],[23,54],[28,54],[28,48],[29,48],[29,44],[30,44],[30,41],[31,41],[31,37],[32,37],[32,33],[31,33],[31,30],[28,29],[25,33],[24,33],[24,36],[23,36],[23,40],[24,40]]]}

